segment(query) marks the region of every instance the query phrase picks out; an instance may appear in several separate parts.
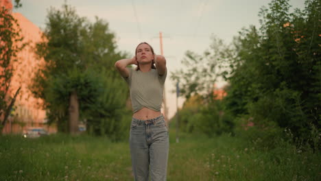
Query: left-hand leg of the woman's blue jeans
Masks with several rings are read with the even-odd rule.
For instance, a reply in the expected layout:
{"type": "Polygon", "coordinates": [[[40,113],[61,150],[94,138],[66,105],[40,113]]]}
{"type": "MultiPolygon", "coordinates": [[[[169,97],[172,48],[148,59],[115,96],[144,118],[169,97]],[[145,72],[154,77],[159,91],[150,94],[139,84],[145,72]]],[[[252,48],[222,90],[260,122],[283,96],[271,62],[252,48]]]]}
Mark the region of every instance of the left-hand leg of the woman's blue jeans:
{"type": "Polygon", "coordinates": [[[149,177],[150,153],[146,142],[145,125],[130,128],[130,155],[134,180],[147,181],[149,177]]]}

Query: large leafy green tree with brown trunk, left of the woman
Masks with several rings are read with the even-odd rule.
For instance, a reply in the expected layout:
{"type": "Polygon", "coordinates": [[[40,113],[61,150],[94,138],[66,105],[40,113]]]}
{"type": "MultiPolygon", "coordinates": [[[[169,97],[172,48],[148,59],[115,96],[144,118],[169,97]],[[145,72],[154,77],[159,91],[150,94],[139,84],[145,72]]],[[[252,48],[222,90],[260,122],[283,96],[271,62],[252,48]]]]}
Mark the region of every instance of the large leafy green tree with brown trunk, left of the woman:
{"type": "MultiPolygon", "coordinates": [[[[104,86],[121,80],[113,64],[126,55],[116,51],[115,35],[110,32],[108,23],[97,17],[95,23],[90,23],[66,4],[62,5],[62,10],[51,8],[43,40],[36,48],[38,56],[45,59],[45,66],[34,77],[32,92],[45,100],[49,123],[58,123],[59,131],[74,132],[78,118],[99,119],[95,111],[103,108],[95,105],[106,94],[104,86]]],[[[127,90],[126,84],[117,86],[119,93],[127,90]]],[[[119,93],[107,94],[118,99],[119,93]]],[[[120,100],[128,97],[128,92],[125,93],[120,95],[120,100]]],[[[102,104],[115,106],[104,101],[102,104]]],[[[126,100],[123,105],[125,103],[126,100]]]]}

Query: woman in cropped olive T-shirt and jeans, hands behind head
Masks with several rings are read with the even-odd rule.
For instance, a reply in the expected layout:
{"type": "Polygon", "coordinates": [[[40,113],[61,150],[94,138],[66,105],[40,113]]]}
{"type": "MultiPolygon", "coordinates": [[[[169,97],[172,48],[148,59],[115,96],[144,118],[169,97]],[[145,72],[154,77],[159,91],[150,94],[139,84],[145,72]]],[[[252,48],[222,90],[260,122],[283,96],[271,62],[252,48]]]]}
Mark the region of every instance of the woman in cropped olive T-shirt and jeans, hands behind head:
{"type": "Polygon", "coordinates": [[[118,60],[115,67],[130,87],[132,125],[130,154],[135,180],[166,180],[169,136],[160,108],[167,75],[166,60],[156,56],[148,43],[136,47],[131,59],[118,60]],[[128,69],[136,64],[136,70],[128,69]],[[156,64],[156,67],[154,66],[156,64]]]}

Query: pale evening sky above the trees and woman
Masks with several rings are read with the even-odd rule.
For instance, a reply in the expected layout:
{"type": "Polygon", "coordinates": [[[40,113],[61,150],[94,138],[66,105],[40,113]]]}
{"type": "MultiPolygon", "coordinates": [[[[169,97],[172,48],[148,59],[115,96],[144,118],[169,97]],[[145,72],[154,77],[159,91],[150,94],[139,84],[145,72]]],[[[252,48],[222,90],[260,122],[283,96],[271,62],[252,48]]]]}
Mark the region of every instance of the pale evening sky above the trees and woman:
{"type": "MultiPolygon", "coordinates": [[[[23,0],[22,8],[14,10],[23,14],[40,29],[45,29],[50,7],[61,9],[64,0],[23,0]]],[[[259,11],[270,0],[68,0],[79,16],[90,21],[95,16],[109,23],[116,35],[119,51],[134,55],[136,45],[147,42],[160,54],[159,32],[163,34],[163,53],[167,60],[165,83],[168,117],[176,112],[176,93],[170,75],[183,69],[180,63],[187,50],[203,53],[216,36],[230,43],[242,27],[259,27],[259,11]]],[[[290,0],[293,8],[304,8],[304,0],[290,0]]],[[[131,57],[129,57],[131,58],[131,57]]],[[[217,82],[217,87],[225,82],[217,82]]],[[[178,99],[182,106],[184,99],[178,99]]]]}

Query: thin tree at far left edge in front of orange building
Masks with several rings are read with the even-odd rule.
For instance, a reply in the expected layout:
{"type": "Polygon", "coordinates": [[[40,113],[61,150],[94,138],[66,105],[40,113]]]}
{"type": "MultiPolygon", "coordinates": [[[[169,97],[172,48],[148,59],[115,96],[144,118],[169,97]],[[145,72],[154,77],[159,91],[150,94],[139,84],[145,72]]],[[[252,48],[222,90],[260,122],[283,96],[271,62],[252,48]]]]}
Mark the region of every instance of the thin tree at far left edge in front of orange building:
{"type": "MultiPolygon", "coordinates": [[[[15,1],[15,8],[21,7],[20,0],[15,1]]],[[[19,94],[18,88],[14,95],[10,93],[11,78],[14,73],[13,63],[17,62],[17,53],[25,47],[22,43],[21,29],[16,19],[11,14],[11,10],[5,7],[0,8],[0,130],[5,126],[14,106],[16,96],[19,94]]]]}

